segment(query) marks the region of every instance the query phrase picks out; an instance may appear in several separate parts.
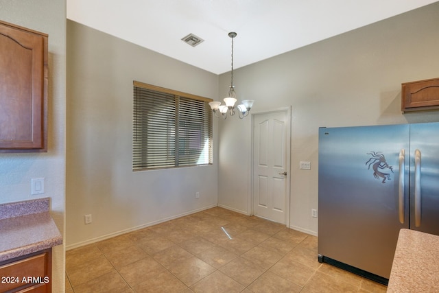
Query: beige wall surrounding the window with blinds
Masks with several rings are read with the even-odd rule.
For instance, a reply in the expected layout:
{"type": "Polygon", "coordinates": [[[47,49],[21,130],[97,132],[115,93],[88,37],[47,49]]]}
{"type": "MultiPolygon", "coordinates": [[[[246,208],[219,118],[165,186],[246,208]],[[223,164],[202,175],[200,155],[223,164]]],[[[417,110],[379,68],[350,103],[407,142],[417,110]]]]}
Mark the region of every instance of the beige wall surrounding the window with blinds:
{"type": "Polygon", "coordinates": [[[217,99],[217,75],[73,21],[67,70],[67,249],[216,206],[217,144],[214,165],[132,172],[132,82],[217,99]]]}

